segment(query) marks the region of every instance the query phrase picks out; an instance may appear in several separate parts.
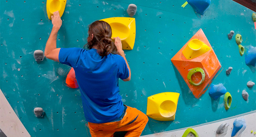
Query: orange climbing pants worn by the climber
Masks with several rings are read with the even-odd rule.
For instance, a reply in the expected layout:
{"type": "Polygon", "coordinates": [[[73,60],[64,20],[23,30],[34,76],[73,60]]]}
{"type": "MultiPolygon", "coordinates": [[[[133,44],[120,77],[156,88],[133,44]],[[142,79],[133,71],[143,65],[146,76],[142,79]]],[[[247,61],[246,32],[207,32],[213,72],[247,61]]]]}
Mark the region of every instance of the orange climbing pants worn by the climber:
{"type": "Polygon", "coordinates": [[[92,137],[113,137],[114,132],[127,131],[125,137],[139,137],[148,122],[142,111],[127,106],[121,121],[108,123],[88,122],[92,137]]]}

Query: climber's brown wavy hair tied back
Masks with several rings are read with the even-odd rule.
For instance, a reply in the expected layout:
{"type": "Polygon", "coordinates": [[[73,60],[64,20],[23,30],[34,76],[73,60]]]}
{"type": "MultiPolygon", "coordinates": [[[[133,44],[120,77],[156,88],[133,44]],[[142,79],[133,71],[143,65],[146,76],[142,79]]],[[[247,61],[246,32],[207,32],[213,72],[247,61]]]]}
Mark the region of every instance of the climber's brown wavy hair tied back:
{"type": "Polygon", "coordinates": [[[93,46],[97,46],[97,52],[100,56],[107,56],[116,51],[116,46],[111,39],[112,30],[108,23],[101,20],[91,23],[88,34],[87,47],[92,49],[93,46]]]}

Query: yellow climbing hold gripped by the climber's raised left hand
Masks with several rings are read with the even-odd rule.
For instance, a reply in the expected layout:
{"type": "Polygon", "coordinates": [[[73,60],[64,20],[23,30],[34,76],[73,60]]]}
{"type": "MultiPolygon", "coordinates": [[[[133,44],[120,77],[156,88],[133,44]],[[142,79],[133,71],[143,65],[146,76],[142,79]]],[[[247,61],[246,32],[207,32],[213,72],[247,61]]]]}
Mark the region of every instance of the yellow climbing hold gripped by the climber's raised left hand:
{"type": "Polygon", "coordinates": [[[52,20],[53,12],[59,11],[60,17],[63,15],[66,7],[66,0],[47,0],[46,11],[48,18],[52,20]]]}

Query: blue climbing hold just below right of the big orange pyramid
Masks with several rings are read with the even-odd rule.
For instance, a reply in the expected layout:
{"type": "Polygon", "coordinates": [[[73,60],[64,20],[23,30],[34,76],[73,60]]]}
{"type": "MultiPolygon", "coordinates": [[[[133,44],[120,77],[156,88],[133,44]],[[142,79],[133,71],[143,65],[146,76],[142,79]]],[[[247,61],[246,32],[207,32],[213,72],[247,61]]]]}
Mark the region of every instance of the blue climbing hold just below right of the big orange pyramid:
{"type": "Polygon", "coordinates": [[[209,95],[214,100],[217,100],[221,95],[224,95],[227,92],[226,88],[223,86],[223,84],[210,85],[209,89],[209,95]]]}

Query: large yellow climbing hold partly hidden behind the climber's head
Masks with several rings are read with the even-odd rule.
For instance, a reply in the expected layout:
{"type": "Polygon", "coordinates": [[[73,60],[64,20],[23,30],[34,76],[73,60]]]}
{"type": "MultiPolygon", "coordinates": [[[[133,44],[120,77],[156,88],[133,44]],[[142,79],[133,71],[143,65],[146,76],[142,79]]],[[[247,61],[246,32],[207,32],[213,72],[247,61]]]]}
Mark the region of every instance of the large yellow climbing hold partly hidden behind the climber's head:
{"type": "Polygon", "coordinates": [[[112,39],[113,37],[120,37],[123,49],[133,49],[136,35],[135,18],[114,17],[102,20],[111,26],[112,39]]]}

